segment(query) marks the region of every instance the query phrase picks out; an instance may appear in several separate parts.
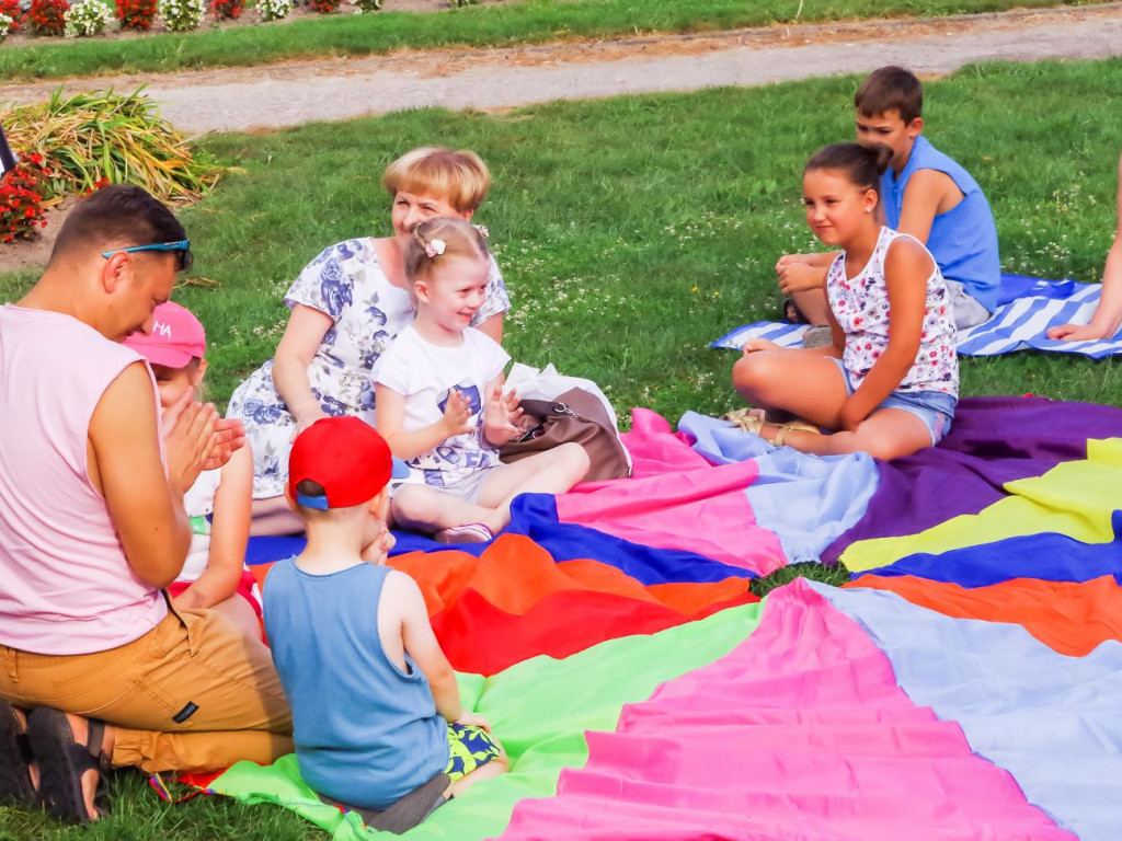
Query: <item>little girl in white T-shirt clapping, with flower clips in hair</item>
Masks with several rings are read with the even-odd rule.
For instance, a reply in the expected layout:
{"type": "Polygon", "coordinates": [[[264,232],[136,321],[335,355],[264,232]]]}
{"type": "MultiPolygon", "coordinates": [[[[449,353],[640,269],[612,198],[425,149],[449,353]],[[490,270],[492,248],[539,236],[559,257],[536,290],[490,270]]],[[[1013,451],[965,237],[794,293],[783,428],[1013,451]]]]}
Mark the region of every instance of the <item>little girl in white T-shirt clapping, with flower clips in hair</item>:
{"type": "Polygon", "coordinates": [[[484,543],[511,521],[519,493],[563,493],[585,478],[588,455],[567,443],[504,465],[522,410],[503,394],[511,358],[469,326],[482,305],[490,255],[462,219],[422,222],[405,248],[417,314],[374,369],[378,432],[413,481],[393,497],[394,520],[441,543],[484,543]]]}

